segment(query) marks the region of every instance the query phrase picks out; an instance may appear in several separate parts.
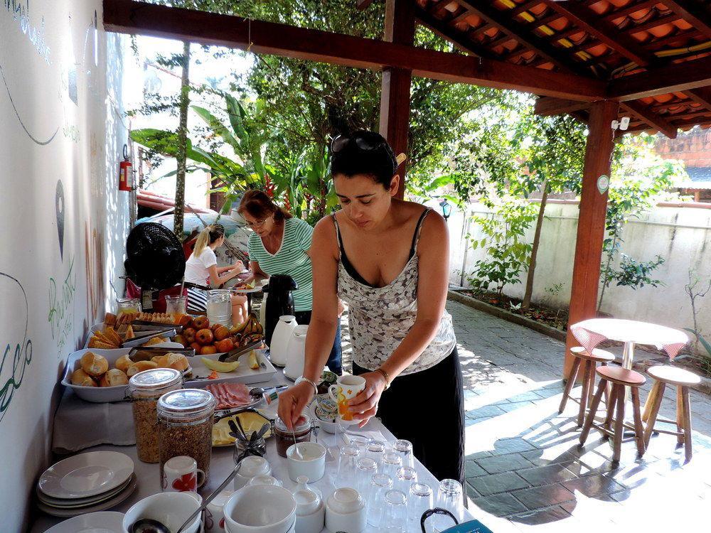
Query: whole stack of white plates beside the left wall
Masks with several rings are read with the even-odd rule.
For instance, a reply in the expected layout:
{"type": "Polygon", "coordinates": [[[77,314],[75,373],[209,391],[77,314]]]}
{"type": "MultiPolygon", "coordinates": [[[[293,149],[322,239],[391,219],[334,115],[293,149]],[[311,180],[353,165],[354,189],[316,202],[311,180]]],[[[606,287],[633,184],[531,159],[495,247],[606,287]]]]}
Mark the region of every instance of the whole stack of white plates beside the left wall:
{"type": "Polygon", "coordinates": [[[124,453],[91,451],[51,466],[37,483],[38,507],[55,517],[110,509],[136,489],[134,462],[124,453]]]}

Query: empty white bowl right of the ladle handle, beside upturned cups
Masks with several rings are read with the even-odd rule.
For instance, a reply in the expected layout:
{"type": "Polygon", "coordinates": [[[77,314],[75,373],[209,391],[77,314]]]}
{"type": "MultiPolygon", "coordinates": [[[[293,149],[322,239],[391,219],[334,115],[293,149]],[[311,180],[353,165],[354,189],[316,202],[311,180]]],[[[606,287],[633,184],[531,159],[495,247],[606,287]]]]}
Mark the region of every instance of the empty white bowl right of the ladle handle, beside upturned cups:
{"type": "Polygon", "coordinates": [[[229,533],[286,533],[296,520],[296,500],[274,485],[247,485],[225,503],[229,533]]]}

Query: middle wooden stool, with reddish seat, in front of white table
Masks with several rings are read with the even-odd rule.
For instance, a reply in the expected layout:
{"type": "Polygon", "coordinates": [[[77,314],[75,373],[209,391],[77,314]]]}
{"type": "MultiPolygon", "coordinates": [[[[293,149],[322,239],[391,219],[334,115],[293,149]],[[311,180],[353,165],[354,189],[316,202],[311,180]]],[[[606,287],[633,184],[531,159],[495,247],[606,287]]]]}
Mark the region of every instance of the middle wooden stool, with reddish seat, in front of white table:
{"type": "Polygon", "coordinates": [[[585,425],[580,434],[580,446],[587,440],[590,433],[590,428],[595,426],[602,431],[606,436],[612,436],[613,454],[612,462],[619,463],[620,452],[622,449],[622,433],[625,427],[634,429],[634,439],[637,443],[637,452],[639,457],[644,455],[644,431],[642,429],[642,417],[639,412],[639,387],[646,382],[643,375],[634,370],[626,370],[621,367],[599,367],[597,375],[600,377],[600,384],[597,387],[597,392],[592,399],[592,405],[585,419],[585,425]],[[607,416],[603,424],[595,424],[595,413],[602,399],[602,394],[605,392],[607,383],[612,384],[612,392],[607,404],[607,416]],[[634,427],[624,423],[624,397],[625,387],[629,387],[632,392],[632,416],[634,417],[634,427]],[[614,431],[611,431],[612,421],[614,419],[614,431]]]}

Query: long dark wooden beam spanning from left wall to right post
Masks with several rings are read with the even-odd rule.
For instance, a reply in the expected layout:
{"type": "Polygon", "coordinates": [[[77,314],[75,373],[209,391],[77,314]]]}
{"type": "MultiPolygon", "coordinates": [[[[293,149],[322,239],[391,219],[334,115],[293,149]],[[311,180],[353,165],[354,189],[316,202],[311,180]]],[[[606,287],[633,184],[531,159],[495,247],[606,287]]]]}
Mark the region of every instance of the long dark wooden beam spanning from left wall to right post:
{"type": "Polygon", "coordinates": [[[104,27],[116,33],[240,48],[370,70],[404,68],[412,70],[412,75],[434,80],[574,100],[601,99],[605,93],[605,83],[592,77],[457,53],[131,0],[104,0],[103,6],[104,27]]]}

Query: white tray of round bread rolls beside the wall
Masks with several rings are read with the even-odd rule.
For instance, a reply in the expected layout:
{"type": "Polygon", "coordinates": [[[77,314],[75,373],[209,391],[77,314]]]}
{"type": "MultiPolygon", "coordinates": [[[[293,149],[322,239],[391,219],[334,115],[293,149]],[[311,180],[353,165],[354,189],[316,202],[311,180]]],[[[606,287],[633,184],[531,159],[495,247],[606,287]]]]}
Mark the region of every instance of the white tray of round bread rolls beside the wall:
{"type": "Polygon", "coordinates": [[[69,355],[62,384],[73,389],[87,402],[121,402],[132,375],[150,368],[175,368],[187,377],[192,372],[188,355],[181,353],[154,353],[149,358],[131,355],[132,349],[107,350],[102,348],[79,350],[69,355]]]}

